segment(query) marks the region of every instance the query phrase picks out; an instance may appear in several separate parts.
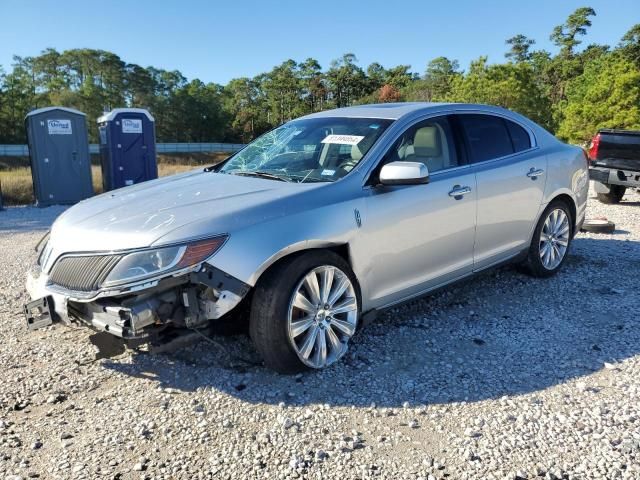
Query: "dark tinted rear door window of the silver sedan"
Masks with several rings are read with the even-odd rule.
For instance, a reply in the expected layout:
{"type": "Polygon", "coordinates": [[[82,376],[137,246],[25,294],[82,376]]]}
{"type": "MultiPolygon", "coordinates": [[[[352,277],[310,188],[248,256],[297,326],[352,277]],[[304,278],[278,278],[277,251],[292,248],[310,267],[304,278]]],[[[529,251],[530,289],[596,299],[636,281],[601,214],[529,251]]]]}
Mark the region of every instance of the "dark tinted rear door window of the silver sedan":
{"type": "Polygon", "coordinates": [[[493,115],[459,115],[471,150],[471,162],[484,162],[514,153],[506,122],[493,115]]]}

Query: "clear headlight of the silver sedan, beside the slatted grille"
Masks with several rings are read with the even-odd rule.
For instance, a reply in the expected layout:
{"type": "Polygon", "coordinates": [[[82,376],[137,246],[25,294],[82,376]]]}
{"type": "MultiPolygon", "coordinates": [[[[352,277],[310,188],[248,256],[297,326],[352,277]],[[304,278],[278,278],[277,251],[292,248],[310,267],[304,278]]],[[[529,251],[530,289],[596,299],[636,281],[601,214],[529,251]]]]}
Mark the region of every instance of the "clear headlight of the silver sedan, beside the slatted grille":
{"type": "Polygon", "coordinates": [[[220,236],[184,245],[129,253],[109,272],[103,286],[127,283],[159,273],[192,267],[218,251],[226,239],[226,236],[220,236]]]}

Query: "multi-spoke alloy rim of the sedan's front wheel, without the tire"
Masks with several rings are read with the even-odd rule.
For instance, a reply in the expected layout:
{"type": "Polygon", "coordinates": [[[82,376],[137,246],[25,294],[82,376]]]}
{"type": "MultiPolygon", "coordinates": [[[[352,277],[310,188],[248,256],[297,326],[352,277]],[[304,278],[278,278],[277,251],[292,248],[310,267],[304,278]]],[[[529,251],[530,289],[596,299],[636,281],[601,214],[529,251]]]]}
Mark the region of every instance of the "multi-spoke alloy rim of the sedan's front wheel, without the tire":
{"type": "Polygon", "coordinates": [[[289,302],[289,341],[302,363],[324,368],[340,359],[356,331],[358,300],[349,277],[323,265],[309,271],[289,302]]]}

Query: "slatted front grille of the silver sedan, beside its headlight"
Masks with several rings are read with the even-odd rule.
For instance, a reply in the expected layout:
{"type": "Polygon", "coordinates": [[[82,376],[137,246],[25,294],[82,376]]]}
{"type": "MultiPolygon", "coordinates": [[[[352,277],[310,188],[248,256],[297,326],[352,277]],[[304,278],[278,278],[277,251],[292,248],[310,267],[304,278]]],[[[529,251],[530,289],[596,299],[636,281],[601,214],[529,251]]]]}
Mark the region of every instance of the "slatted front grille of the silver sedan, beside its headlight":
{"type": "Polygon", "coordinates": [[[58,260],[49,281],[67,290],[95,292],[123,255],[63,257],[58,260]]]}

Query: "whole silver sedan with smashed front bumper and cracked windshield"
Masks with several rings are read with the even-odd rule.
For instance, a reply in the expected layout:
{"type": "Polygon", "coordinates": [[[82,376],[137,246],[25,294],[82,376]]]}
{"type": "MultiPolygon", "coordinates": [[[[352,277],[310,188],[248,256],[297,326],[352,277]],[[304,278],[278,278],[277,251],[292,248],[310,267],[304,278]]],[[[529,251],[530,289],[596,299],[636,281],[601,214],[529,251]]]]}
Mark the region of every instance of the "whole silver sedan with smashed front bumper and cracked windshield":
{"type": "Polygon", "coordinates": [[[587,179],[581,149],[502,108],[316,113],[67,210],[29,275],[27,322],[135,343],[248,320],[267,366],[323,368],[382,309],[507,262],[555,274],[587,179]]]}

